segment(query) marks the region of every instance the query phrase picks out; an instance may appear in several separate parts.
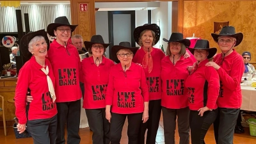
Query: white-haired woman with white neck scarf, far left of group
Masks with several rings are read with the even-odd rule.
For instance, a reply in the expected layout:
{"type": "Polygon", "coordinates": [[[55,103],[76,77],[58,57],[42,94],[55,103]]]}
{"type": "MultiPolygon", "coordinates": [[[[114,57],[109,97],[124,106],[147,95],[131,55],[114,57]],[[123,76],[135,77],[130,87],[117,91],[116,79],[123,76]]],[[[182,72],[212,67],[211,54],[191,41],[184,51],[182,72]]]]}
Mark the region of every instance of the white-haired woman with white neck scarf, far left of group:
{"type": "Polygon", "coordinates": [[[22,55],[30,60],[20,69],[15,90],[16,116],[19,119],[17,131],[24,132],[27,125],[34,143],[54,144],[57,129],[55,79],[51,63],[45,58],[49,40],[42,29],[24,35],[20,44],[22,55]],[[29,103],[29,108],[26,109],[28,88],[33,95],[33,102],[29,103]]]}

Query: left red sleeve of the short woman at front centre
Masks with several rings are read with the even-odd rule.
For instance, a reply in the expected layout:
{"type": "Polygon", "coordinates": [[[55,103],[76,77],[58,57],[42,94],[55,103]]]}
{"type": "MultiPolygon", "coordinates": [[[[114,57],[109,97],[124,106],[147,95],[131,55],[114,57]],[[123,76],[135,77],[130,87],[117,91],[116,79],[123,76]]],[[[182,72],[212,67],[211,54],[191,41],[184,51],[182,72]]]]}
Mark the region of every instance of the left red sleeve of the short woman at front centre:
{"type": "Polygon", "coordinates": [[[111,67],[108,78],[108,88],[106,92],[106,105],[112,105],[114,95],[114,76],[113,70],[115,67],[111,67]]]}

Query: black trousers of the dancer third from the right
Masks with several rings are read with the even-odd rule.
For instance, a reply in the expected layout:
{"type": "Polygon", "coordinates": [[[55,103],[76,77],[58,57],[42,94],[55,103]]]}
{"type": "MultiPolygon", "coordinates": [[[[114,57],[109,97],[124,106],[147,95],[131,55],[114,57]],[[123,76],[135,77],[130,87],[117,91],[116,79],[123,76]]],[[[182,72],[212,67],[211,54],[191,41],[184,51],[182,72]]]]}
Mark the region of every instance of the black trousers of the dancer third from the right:
{"type": "Polygon", "coordinates": [[[189,108],[168,109],[162,107],[164,123],[164,142],[175,144],[176,119],[178,116],[178,129],[180,144],[189,144],[189,108]]]}

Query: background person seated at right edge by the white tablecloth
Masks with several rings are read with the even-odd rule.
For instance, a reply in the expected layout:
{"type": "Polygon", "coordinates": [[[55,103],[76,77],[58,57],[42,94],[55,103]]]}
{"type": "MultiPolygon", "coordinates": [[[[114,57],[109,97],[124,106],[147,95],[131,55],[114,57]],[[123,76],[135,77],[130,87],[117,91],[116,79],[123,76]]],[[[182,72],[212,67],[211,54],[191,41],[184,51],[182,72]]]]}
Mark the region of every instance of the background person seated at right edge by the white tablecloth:
{"type": "Polygon", "coordinates": [[[249,63],[249,61],[251,60],[251,52],[245,51],[242,54],[243,56],[243,60],[244,60],[244,76],[246,76],[247,74],[252,74],[252,77],[256,76],[256,70],[255,67],[249,63]]]}

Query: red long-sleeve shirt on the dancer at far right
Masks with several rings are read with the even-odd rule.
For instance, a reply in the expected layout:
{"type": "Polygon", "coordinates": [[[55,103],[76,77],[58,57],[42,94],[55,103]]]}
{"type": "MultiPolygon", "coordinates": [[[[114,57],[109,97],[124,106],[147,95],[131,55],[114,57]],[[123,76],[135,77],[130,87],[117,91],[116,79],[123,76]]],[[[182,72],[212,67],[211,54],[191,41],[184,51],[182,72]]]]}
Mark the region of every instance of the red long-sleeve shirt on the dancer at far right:
{"type": "Polygon", "coordinates": [[[243,57],[234,50],[231,54],[225,56],[221,64],[222,60],[222,54],[217,54],[214,58],[214,62],[220,65],[220,69],[217,70],[220,76],[218,107],[241,108],[242,93],[240,82],[244,72],[243,57]]]}

